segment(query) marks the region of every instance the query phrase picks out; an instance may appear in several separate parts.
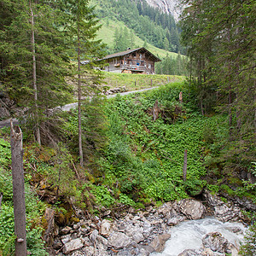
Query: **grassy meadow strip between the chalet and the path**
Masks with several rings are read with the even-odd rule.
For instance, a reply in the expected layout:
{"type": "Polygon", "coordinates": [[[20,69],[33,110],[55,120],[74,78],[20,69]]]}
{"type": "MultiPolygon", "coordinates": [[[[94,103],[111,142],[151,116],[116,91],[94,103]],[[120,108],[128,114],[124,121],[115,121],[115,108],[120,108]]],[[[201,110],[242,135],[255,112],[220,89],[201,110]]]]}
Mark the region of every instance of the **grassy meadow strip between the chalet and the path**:
{"type": "Polygon", "coordinates": [[[172,82],[182,81],[183,76],[163,74],[131,74],[131,73],[104,73],[104,84],[110,89],[125,86],[125,90],[142,90],[157,87],[172,82]],[[152,81],[152,82],[151,82],[152,81]]]}

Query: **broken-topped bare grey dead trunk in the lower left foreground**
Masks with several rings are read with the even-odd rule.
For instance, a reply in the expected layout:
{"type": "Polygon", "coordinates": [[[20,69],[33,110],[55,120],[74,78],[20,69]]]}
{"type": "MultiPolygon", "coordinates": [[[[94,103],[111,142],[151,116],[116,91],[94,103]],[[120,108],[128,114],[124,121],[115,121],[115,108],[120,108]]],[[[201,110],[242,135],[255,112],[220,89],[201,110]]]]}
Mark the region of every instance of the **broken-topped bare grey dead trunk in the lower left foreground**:
{"type": "Polygon", "coordinates": [[[26,256],[26,205],[23,171],[22,132],[11,120],[13,200],[15,212],[15,256],[26,256]]]}

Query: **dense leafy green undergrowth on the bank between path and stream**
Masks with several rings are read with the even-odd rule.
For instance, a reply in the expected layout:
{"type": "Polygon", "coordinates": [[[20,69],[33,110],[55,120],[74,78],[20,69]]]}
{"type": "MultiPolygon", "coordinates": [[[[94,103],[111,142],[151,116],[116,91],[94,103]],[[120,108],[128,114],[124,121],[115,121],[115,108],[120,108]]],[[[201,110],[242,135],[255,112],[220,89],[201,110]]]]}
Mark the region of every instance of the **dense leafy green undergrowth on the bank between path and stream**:
{"type": "Polygon", "coordinates": [[[180,85],[113,99],[108,106],[109,146],[103,165],[112,178],[106,177],[103,184],[118,184],[120,192],[134,201],[169,201],[201,190],[205,185],[201,176],[206,174],[203,131],[206,126],[215,131],[219,118],[191,113],[189,104],[177,101],[180,90],[188,99],[188,90],[180,85]],[[154,122],[150,111],[155,101],[161,116],[154,122]],[[184,149],[189,152],[186,183],[182,178],[184,149]]]}

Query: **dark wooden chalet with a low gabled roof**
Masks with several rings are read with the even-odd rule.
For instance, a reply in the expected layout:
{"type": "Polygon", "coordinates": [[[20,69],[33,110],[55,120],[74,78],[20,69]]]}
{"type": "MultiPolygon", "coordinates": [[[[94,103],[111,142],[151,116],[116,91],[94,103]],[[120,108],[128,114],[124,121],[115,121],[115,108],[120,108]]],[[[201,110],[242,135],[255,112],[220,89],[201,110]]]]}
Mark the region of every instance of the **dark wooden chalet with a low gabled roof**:
{"type": "Polygon", "coordinates": [[[108,55],[103,60],[108,62],[108,66],[105,67],[105,71],[108,72],[148,74],[154,74],[154,63],[161,61],[143,47],[108,55]]]}

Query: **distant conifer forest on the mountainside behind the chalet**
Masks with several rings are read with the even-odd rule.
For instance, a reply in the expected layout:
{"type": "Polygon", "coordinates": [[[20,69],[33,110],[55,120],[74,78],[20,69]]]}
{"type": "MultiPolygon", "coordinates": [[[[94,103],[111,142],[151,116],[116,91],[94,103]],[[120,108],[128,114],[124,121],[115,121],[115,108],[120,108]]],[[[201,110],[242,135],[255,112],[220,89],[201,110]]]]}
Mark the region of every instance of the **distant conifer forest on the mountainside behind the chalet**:
{"type": "MultiPolygon", "coordinates": [[[[96,15],[99,19],[108,17],[121,20],[144,42],[160,49],[183,54],[184,50],[179,40],[180,30],[172,15],[150,7],[146,1],[94,0],[92,3],[96,4],[96,15]]],[[[135,48],[132,37],[132,32],[117,30],[114,48],[110,51],[123,51],[127,47],[135,48]]]]}

